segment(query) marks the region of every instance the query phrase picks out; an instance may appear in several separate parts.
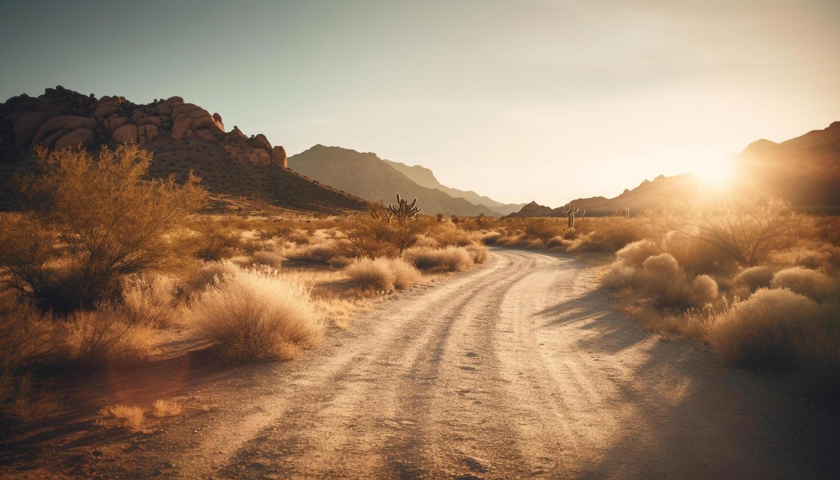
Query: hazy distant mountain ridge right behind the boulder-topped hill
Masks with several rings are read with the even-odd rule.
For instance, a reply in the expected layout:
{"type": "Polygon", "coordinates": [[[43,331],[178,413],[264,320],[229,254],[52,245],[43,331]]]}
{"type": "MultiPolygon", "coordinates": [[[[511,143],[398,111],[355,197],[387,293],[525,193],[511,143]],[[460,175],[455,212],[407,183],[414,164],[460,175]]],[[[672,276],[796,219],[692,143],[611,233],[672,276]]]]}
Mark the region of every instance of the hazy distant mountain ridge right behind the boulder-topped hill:
{"type": "Polygon", "coordinates": [[[417,198],[424,214],[498,216],[495,210],[454,198],[437,188],[418,185],[374,153],[361,153],[337,146],[315,145],[289,157],[289,168],[318,182],[340,188],[370,202],[393,202],[398,192],[417,198]]]}

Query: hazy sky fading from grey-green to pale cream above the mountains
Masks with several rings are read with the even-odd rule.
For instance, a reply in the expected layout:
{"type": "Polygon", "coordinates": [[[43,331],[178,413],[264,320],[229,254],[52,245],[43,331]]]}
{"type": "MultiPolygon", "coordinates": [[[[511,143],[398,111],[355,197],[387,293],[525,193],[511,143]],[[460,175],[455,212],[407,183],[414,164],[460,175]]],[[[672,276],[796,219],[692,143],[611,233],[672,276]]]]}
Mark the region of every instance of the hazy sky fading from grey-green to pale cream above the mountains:
{"type": "Polygon", "coordinates": [[[840,120],[840,2],[0,2],[0,98],[181,96],[558,206],[840,120]]]}

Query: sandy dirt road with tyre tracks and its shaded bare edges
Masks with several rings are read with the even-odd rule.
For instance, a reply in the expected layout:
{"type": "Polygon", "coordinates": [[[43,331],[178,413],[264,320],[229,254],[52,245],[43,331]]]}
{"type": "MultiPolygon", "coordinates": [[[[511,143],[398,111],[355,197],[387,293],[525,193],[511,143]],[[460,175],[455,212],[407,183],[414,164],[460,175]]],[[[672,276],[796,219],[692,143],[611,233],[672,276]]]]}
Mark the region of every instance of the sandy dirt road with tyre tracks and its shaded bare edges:
{"type": "Polygon", "coordinates": [[[796,398],[784,377],[636,329],[570,256],[493,249],[485,266],[397,294],[299,361],[186,362],[111,387],[160,398],[152,381],[170,378],[185,414],[131,433],[95,425],[96,402],[80,397],[65,424],[5,446],[0,474],[801,478],[840,467],[836,410],[796,398]]]}

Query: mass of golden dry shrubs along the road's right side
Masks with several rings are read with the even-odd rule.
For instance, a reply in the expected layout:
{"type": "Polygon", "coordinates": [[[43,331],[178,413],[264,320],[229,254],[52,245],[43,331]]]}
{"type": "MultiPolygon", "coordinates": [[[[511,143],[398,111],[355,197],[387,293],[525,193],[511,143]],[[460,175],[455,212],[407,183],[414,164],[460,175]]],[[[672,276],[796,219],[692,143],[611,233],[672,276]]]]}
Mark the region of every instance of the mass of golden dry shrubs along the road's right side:
{"type": "MultiPolygon", "coordinates": [[[[643,224],[646,219],[637,219],[643,224]]],[[[588,219],[587,219],[588,221],[588,219]]],[[[840,220],[732,202],[647,219],[601,277],[644,328],[840,391],[840,220]]]]}

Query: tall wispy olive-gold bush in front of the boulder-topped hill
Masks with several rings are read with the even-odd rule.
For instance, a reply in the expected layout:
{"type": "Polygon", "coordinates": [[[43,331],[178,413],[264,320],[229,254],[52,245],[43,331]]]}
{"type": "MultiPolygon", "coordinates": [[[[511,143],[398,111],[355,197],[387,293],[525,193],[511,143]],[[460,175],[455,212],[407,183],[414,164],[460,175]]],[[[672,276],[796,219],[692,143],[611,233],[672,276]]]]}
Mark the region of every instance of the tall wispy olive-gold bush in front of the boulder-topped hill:
{"type": "Polygon", "coordinates": [[[0,268],[14,288],[45,308],[92,308],[116,292],[124,275],[180,264],[177,227],[207,198],[197,177],[183,185],[146,179],[151,153],[136,145],[104,148],[98,160],[86,150],[40,149],[37,156],[40,173],[18,182],[27,208],[18,227],[34,246],[8,241],[8,226],[0,227],[0,268]],[[61,242],[45,243],[50,235],[61,242]],[[21,246],[31,254],[11,260],[21,246]],[[71,259],[66,266],[74,281],[66,284],[69,295],[51,298],[43,285],[50,257],[58,256],[71,259]]]}

